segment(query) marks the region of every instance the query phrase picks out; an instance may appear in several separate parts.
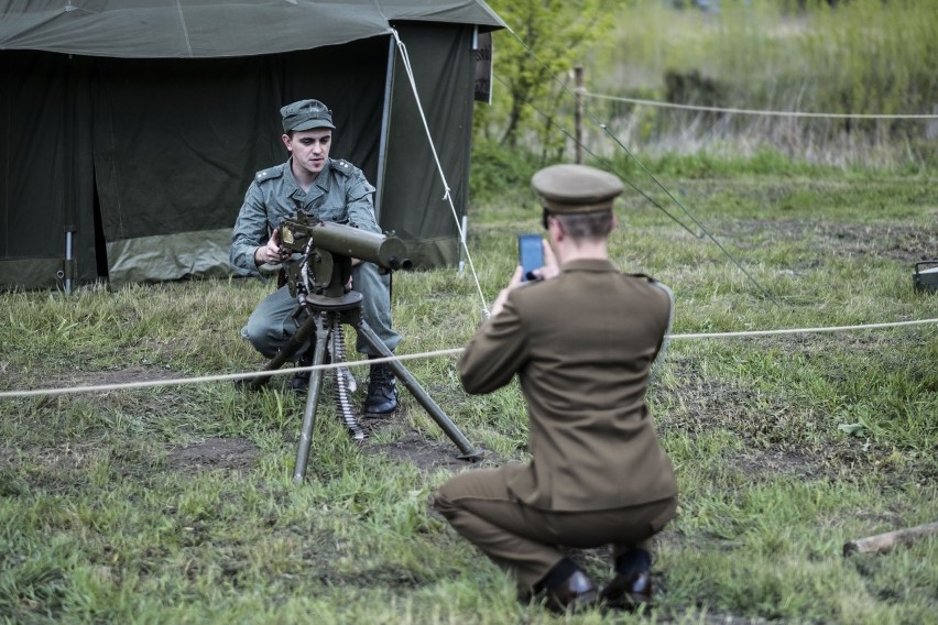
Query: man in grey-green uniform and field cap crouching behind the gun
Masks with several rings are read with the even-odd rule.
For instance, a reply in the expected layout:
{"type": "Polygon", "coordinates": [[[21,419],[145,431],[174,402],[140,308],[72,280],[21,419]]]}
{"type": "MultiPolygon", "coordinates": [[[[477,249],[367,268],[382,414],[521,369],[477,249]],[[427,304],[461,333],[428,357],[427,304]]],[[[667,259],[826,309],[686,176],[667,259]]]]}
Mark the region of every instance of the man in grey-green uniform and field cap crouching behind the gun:
{"type": "MultiPolygon", "coordinates": [[[[286,259],[281,250],[279,228],[285,217],[305,212],[319,221],[334,221],[369,232],[381,232],[374,218],[374,187],[358,167],[329,158],[332,140],[332,111],[318,100],[302,100],[281,109],[283,144],[290,152],[286,163],[258,172],[244,195],[231,238],[230,263],[240,275],[261,277],[259,267],[286,259]]],[[[391,328],[390,276],[378,265],[358,263],[352,268],[352,287],[361,293],[361,314],[388,349],[401,341],[391,328]]],[[[284,285],[269,295],[251,314],[241,336],[259,352],[273,358],[298,328],[293,316],[296,299],[284,285]]],[[[380,357],[361,338],[357,349],[380,357]]],[[[313,364],[312,354],[301,353],[299,365],[313,364]]],[[[309,374],[297,374],[293,386],[302,391],[309,374]]],[[[394,374],[386,364],[371,365],[364,415],[379,417],[397,408],[394,374]]]]}

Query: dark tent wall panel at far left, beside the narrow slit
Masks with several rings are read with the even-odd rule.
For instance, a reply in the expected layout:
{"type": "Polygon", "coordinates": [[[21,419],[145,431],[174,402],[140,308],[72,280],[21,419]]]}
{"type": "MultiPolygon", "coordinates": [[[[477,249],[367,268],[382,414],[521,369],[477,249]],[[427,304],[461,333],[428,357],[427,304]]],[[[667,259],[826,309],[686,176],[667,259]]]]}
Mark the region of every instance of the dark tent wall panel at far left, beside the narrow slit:
{"type": "Polygon", "coordinates": [[[53,284],[66,231],[73,277],[97,278],[87,69],[80,58],[0,54],[0,262],[22,270],[0,275],[0,289],[53,284]]]}

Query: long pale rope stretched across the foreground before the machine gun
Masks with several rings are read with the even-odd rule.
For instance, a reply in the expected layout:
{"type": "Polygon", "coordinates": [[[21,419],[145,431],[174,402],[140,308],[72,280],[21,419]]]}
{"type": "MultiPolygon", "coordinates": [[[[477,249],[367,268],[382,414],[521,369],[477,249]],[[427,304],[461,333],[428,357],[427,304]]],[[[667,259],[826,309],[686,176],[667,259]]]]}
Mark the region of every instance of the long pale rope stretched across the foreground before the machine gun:
{"type": "MultiPolygon", "coordinates": [[[[860,326],[830,326],[825,328],[792,328],[782,330],[748,330],[742,332],[710,332],[710,333],[688,333],[688,335],[668,335],[668,340],[681,339],[717,339],[717,338],[739,338],[739,337],[764,337],[773,335],[806,335],[817,332],[840,332],[850,330],[870,330],[876,328],[898,328],[902,326],[923,326],[927,324],[938,324],[936,319],[917,319],[912,321],[892,321],[886,324],[864,324],[860,326]]],[[[106,391],[122,391],[127,388],[146,388],[152,386],[181,386],[184,384],[199,384],[203,382],[221,382],[227,380],[247,380],[261,375],[286,375],[290,373],[298,373],[301,371],[318,371],[320,369],[337,369],[339,366],[364,366],[389,362],[392,360],[417,360],[427,359],[440,355],[457,355],[462,353],[466,348],[454,348],[446,350],[437,350],[430,352],[412,353],[403,355],[393,355],[386,358],[370,358],[368,360],[356,360],[351,362],[338,362],[321,364],[317,366],[294,366],[290,369],[279,369],[276,371],[254,371],[250,373],[228,373],[221,375],[205,375],[201,377],[176,377],[170,380],[146,380],[141,382],[128,382],[123,384],[99,384],[96,386],[72,386],[68,388],[34,388],[32,391],[2,391],[0,399],[7,397],[34,397],[39,395],[70,395],[77,393],[101,393],[106,391]]]]}

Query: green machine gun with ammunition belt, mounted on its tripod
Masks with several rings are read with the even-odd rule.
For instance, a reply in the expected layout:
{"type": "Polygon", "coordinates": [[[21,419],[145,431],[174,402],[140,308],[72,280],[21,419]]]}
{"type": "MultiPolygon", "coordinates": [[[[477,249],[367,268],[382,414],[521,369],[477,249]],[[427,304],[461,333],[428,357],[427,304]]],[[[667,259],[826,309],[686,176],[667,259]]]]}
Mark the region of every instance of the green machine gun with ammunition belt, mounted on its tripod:
{"type": "MultiPolygon", "coordinates": [[[[280,369],[284,362],[292,360],[304,344],[315,340],[314,369],[309,375],[303,429],[293,473],[293,481],[298,483],[303,480],[309,461],[313,426],[316,423],[316,408],[323,385],[324,369],[319,366],[325,362],[327,343],[331,340],[332,363],[341,362],[343,344],[341,325],[347,324],[352,326],[358,337],[375,352],[384,358],[393,359],[391,350],[361,316],[362,295],[348,288],[353,259],[374,263],[383,271],[406,271],[413,267],[413,263],[406,257],[404,242],[396,237],[368,232],[340,223],[316,221],[303,213],[284,219],[281,222],[280,237],[282,249],[291,253],[285,279],[291,295],[296,298],[298,305],[297,318],[305,316],[305,320],[283,350],[271,359],[265,371],[280,369]]],[[[479,458],[480,453],[476,451],[472,443],[424,391],[411,372],[399,360],[389,360],[388,366],[456,443],[462,452],[460,458],[467,460],[479,458]]],[[[260,375],[252,381],[251,385],[259,388],[269,380],[270,375],[260,375]]],[[[341,375],[336,376],[336,387],[346,427],[357,440],[363,440],[364,430],[351,415],[347,386],[341,375]]]]}

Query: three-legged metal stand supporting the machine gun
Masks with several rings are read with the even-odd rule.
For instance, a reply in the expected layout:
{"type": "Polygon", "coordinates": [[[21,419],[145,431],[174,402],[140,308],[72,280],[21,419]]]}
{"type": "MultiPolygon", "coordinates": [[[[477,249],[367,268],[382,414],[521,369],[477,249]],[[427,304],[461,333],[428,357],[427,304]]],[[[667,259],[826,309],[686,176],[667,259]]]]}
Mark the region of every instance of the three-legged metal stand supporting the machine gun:
{"type": "MultiPolygon", "coordinates": [[[[369,347],[384,358],[393,358],[394,354],[388,349],[380,337],[374,333],[371,326],[361,316],[362,295],[356,290],[349,290],[339,296],[306,295],[301,298],[301,307],[307,312],[307,318],[296,330],[281,352],[266,365],[265,371],[275,371],[284,362],[291,360],[299,349],[306,344],[313,333],[316,335],[313,364],[316,369],[309,374],[309,387],[306,394],[306,408],[303,413],[303,429],[299,436],[299,447],[296,451],[296,464],[293,471],[293,482],[299,483],[306,474],[306,465],[309,462],[309,447],[313,442],[313,426],[316,423],[316,408],[319,403],[319,394],[323,386],[323,374],[325,370],[318,369],[326,360],[326,344],[330,335],[346,324],[355,328],[358,337],[369,347]]],[[[389,360],[388,366],[404,384],[414,398],[426,409],[427,414],[443,428],[456,447],[459,448],[463,460],[476,460],[481,454],[472,443],[459,431],[459,428],[446,416],[446,413],[433,401],[417,380],[397,360],[389,360]]],[[[259,388],[270,380],[269,375],[262,375],[252,382],[254,388],[259,388]]]]}

